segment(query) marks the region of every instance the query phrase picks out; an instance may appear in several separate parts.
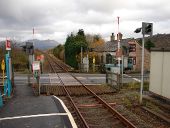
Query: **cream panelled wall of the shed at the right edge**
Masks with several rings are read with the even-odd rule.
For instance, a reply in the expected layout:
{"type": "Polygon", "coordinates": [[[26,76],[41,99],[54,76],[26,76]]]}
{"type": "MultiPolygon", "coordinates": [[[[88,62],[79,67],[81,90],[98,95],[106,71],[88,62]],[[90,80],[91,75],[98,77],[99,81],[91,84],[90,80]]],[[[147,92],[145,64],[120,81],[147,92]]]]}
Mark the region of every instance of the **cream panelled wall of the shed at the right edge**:
{"type": "Polygon", "coordinates": [[[170,98],[170,51],[151,51],[149,90],[170,98]]]}

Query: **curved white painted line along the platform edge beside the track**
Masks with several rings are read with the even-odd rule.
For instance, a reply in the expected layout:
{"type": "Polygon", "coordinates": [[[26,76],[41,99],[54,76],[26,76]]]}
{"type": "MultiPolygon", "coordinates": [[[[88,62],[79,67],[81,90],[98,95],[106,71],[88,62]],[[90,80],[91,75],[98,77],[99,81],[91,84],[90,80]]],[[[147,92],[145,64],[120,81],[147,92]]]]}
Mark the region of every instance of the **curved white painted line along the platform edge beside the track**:
{"type": "Polygon", "coordinates": [[[63,101],[60,100],[58,97],[56,97],[56,96],[54,96],[54,95],[53,95],[53,97],[60,101],[61,105],[63,106],[64,110],[66,111],[66,113],[67,113],[67,115],[68,115],[68,118],[69,118],[69,120],[70,120],[70,122],[71,122],[72,127],[73,127],[73,128],[77,128],[77,125],[76,125],[76,123],[75,123],[75,121],[74,121],[74,119],[73,119],[73,116],[71,115],[70,111],[67,109],[67,107],[65,106],[65,104],[63,103],[63,101]]]}

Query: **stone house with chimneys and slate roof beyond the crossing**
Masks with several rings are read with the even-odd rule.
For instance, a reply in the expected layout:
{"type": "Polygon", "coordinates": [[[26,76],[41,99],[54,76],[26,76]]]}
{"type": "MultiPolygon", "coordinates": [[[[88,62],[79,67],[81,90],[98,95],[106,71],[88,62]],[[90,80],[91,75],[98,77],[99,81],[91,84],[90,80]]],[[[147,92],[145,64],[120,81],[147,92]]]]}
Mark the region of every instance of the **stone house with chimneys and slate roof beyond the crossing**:
{"type": "MultiPolygon", "coordinates": [[[[142,47],[133,38],[122,39],[120,33],[120,47],[121,54],[124,57],[128,57],[128,63],[132,63],[133,71],[141,71],[141,60],[142,60],[142,47]]],[[[107,41],[103,46],[96,47],[94,50],[98,52],[101,63],[103,64],[114,64],[117,58],[118,41],[115,40],[114,34],[112,33],[110,41],[107,41]]],[[[150,69],[150,52],[145,49],[144,59],[144,70],[149,71],[150,69]]]]}

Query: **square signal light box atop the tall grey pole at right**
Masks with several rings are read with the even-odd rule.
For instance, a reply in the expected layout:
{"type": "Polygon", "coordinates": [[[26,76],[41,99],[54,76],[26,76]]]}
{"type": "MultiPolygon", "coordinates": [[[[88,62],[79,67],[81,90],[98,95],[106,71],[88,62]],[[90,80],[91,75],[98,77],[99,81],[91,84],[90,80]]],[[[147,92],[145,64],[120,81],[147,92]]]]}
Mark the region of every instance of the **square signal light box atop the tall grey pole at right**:
{"type": "Polygon", "coordinates": [[[153,23],[142,22],[142,34],[152,36],[152,34],[153,34],[153,23]]]}

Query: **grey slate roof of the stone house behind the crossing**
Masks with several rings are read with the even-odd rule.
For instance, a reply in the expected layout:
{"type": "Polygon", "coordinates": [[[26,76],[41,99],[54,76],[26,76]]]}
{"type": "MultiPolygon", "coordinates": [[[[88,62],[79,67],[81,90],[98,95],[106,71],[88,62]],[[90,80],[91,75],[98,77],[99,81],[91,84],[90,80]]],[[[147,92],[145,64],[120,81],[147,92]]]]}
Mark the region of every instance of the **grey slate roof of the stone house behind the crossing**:
{"type": "MultiPolygon", "coordinates": [[[[120,47],[121,46],[129,47],[128,42],[131,41],[131,40],[132,40],[131,38],[122,39],[120,41],[120,47]]],[[[96,51],[96,52],[115,52],[117,50],[117,47],[118,47],[117,40],[107,41],[104,45],[96,47],[94,49],[94,51],[96,51]]]]}

